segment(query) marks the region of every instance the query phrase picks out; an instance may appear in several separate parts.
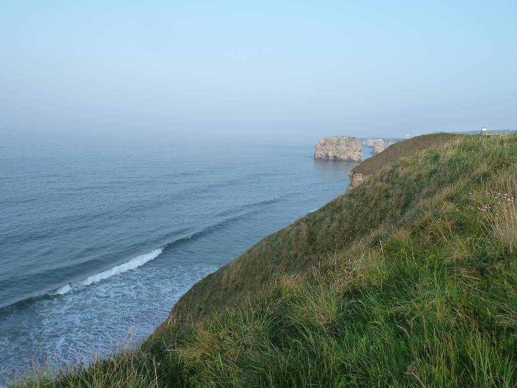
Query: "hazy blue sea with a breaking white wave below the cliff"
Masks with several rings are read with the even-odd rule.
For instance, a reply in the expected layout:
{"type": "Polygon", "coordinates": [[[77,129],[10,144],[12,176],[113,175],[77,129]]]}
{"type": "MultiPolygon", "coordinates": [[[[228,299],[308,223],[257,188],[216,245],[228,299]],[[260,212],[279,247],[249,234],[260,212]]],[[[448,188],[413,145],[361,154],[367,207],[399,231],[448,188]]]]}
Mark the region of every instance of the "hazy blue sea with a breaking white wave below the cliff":
{"type": "Polygon", "coordinates": [[[357,163],[313,152],[1,144],[0,385],[142,340],[193,283],[343,193],[357,163]]]}

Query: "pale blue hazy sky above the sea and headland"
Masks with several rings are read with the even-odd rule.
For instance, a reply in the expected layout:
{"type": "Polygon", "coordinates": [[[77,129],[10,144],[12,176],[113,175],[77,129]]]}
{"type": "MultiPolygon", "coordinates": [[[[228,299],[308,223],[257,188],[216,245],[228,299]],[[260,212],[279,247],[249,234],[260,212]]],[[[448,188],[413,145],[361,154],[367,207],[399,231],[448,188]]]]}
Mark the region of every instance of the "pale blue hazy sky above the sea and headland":
{"type": "Polygon", "coordinates": [[[0,1],[0,131],[517,129],[517,1],[0,1]],[[108,5],[109,3],[109,5],[108,5]]]}

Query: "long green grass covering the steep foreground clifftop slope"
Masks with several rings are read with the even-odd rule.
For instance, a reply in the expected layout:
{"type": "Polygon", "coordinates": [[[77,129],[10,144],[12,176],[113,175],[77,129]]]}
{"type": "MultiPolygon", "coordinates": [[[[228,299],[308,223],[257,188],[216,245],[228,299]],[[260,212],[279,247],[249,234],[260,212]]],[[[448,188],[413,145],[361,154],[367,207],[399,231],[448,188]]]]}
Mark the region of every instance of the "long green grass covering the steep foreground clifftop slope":
{"type": "Polygon", "coordinates": [[[515,387],[516,168],[515,136],[417,152],[203,279],[141,349],[16,385],[515,387]]]}

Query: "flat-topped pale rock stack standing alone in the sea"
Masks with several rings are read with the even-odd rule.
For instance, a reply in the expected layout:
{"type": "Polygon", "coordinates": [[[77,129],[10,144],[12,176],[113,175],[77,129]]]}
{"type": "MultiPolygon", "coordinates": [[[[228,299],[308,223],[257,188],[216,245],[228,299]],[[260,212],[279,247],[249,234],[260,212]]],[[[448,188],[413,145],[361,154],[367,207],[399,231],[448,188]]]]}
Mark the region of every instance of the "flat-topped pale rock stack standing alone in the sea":
{"type": "Polygon", "coordinates": [[[361,161],[361,142],[352,136],[327,136],[316,144],[315,159],[361,161]]]}

